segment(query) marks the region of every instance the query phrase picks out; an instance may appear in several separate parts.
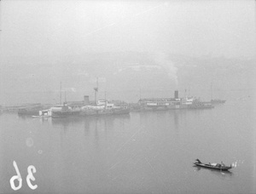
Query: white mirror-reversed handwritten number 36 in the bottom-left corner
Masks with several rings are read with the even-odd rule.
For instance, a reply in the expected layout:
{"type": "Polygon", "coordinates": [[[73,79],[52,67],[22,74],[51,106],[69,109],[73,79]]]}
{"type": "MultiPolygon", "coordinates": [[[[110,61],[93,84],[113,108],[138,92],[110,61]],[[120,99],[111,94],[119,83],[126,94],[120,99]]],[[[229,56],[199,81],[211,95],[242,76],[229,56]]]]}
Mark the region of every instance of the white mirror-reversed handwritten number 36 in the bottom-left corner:
{"type": "MultiPolygon", "coordinates": [[[[15,167],[15,170],[16,170],[16,173],[17,175],[14,175],[10,180],[9,180],[9,183],[12,187],[13,190],[17,191],[21,188],[22,186],[22,179],[21,179],[21,175],[20,175],[20,171],[19,171],[19,168],[17,166],[17,163],[14,161],[14,167],[15,167]],[[15,180],[18,180],[19,181],[19,185],[18,186],[15,186],[15,180]]],[[[35,177],[33,176],[33,173],[36,173],[37,172],[37,169],[30,165],[28,168],[27,168],[27,176],[26,176],[26,183],[27,185],[32,189],[32,190],[35,190],[38,188],[38,185],[32,185],[31,183],[31,180],[36,180],[35,177]]]]}

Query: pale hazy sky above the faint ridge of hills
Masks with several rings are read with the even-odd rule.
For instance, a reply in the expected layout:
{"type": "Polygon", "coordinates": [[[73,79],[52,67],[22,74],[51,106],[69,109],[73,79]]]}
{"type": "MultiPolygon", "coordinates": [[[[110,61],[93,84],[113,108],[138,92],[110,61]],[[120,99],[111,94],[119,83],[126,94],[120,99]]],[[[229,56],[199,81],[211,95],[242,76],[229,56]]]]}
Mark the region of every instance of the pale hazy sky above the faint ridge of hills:
{"type": "Polygon", "coordinates": [[[256,53],[255,1],[1,1],[2,56],[256,53]]]}

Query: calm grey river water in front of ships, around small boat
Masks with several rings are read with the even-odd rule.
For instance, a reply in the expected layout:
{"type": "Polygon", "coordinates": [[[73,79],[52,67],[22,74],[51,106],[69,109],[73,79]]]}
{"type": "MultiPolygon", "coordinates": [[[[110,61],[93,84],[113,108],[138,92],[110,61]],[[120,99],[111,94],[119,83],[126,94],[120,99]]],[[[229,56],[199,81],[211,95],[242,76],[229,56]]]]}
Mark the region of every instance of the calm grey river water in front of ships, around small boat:
{"type": "Polygon", "coordinates": [[[256,193],[254,117],[253,98],[211,110],[116,117],[42,120],[4,113],[0,192],[256,193]],[[234,168],[197,168],[196,158],[234,168]],[[27,171],[31,165],[36,172],[27,171]],[[19,181],[10,180],[17,170],[22,184],[15,191],[19,181]]]}

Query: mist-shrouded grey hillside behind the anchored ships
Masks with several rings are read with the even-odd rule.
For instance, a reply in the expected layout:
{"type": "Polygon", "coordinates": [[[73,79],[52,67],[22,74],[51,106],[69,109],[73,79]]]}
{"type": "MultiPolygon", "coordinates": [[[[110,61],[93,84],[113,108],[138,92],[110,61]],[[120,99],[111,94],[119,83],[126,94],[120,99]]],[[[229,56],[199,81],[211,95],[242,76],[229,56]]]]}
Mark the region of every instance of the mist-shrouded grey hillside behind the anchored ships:
{"type": "Polygon", "coordinates": [[[58,101],[60,82],[68,100],[82,100],[84,94],[94,98],[96,77],[100,98],[106,91],[109,99],[126,101],[169,97],[175,89],[205,100],[211,92],[227,99],[228,91],[255,89],[252,59],[119,52],[10,57],[1,64],[1,104],[58,101]]]}

